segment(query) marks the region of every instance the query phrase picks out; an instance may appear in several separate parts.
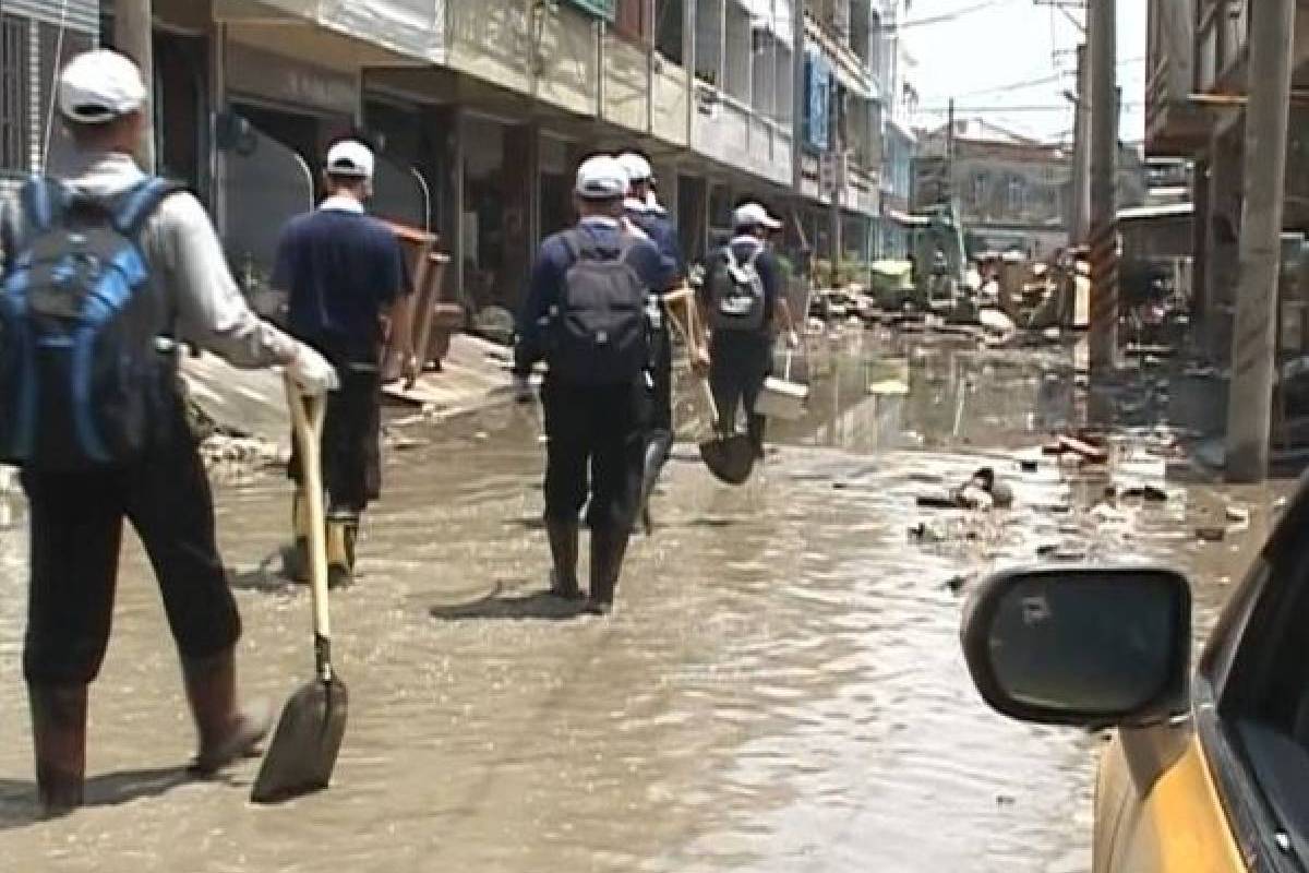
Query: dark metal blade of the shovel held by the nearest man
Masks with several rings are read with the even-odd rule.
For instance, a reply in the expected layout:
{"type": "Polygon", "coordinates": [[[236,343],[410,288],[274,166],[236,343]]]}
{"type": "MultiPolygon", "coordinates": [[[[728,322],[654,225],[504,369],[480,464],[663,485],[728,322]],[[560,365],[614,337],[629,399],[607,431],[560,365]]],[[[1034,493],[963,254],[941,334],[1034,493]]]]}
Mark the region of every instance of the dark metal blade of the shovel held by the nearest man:
{"type": "Polygon", "coordinates": [[[278,804],[327,788],[346,737],[348,703],[338,679],[314,681],[296,691],[281,712],[250,800],[278,804]]]}

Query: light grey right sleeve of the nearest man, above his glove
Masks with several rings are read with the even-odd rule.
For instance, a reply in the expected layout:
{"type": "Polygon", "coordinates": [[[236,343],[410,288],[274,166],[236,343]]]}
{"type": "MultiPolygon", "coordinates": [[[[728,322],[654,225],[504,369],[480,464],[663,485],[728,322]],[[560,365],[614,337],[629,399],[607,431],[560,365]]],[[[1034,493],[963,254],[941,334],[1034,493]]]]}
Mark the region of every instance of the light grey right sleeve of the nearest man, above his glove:
{"type": "Polygon", "coordinates": [[[296,342],[246,304],[199,200],[190,194],[169,198],[154,225],[185,339],[241,368],[295,359],[296,342]]]}

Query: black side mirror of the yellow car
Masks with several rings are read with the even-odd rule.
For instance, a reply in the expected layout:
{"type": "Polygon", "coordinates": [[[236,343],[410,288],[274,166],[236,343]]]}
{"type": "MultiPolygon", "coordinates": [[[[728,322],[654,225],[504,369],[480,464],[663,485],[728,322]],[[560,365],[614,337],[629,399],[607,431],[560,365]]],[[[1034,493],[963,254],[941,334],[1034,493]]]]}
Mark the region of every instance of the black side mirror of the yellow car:
{"type": "Polygon", "coordinates": [[[974,592],[962,635],[978,691],[1013,719],[1147,726],[1189,705],[1191,589],[1173,571],[1000,573],[974,592]]]}

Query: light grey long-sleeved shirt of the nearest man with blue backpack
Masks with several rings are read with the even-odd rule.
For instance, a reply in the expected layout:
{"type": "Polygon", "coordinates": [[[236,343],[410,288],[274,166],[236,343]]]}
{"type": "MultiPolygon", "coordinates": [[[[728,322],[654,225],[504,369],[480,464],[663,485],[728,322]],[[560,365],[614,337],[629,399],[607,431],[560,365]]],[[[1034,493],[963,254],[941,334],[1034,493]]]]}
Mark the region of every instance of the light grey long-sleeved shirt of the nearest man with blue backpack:
{"type": "MultiPolygon", "coordinates": [[[[109,152],[82,152],[71,166],[56,168],[55,175],[92,196],[114,196],[145,179],[130,156],[109,152]]],[[[0,266],[13,257],[22,223],[17,202],[0,203],[0,266]]],[[[179,338],[236,366],[253,369],[295,359],[297,343],[250,310],[213,224],[195,196],[178,192],[165,198],[145,223],[141,246],[158,288],[177,313],[179,338]]]]}

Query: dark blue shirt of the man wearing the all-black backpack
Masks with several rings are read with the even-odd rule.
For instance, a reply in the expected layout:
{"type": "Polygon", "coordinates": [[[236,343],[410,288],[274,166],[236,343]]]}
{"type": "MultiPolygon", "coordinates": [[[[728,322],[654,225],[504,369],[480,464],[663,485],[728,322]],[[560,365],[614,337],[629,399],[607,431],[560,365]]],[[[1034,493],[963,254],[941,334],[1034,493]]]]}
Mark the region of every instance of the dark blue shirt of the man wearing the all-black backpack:
{"type": "MultiPolygon", "coordinates": [[[[617,223],[584,219],[580,226],[598,247],[615,253],[622,249],[617,223]]],[[[531,284],[528,285],[528,294],[518,313],[518,343],[513,365],[516,376],[530,373],[531,365],[545,356],[545,330],[548,327],[550,310],[559,304],[573,260],[563,234],[556,233],[541,243],[531,268],[531,284]]],[[[668,288],[672,284],[672,266],[654,243],[645,240],[632,243],[627,250],[627,262],[645,281],[647,288],[668,288]]]]}

